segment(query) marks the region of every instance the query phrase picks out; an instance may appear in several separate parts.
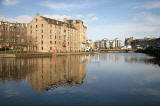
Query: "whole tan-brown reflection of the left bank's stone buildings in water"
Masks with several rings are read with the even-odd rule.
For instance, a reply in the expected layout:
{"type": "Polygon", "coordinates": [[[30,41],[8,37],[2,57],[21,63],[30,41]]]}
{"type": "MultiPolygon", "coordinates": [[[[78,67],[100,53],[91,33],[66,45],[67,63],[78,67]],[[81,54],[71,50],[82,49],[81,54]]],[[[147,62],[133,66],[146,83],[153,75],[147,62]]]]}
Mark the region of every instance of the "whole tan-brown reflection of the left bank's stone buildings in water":
{"type": "Polygon", "coordinates": [[[27,79],[36,93],[59,86],[82,84],[86,76],[86,57],[1,59],[0,80],[27,79]]]}

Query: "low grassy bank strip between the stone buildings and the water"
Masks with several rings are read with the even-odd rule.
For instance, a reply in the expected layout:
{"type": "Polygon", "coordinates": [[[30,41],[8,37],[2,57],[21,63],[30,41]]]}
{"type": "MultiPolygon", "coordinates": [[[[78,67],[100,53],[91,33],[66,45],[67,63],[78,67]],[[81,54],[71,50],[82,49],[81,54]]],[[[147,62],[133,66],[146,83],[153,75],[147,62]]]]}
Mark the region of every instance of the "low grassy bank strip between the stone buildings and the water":
{"type": "Polygon", "coordinates": [[[71,53],[0,53],[0,58],[32,58],[32,57],[53,57],[66,55],[98,54],[98,52],[71,52],[71,53]]]}

